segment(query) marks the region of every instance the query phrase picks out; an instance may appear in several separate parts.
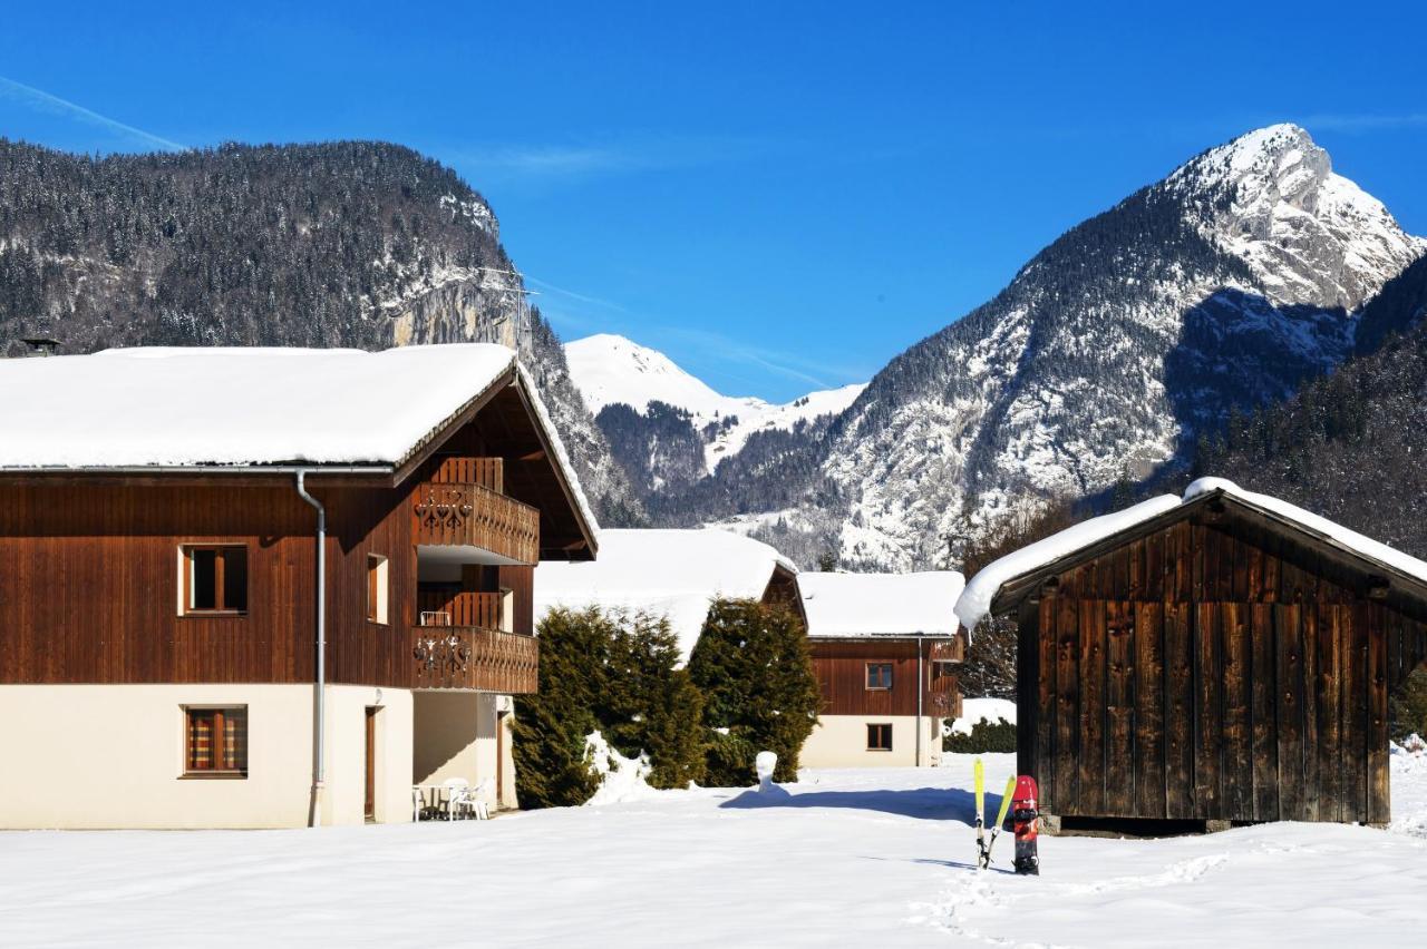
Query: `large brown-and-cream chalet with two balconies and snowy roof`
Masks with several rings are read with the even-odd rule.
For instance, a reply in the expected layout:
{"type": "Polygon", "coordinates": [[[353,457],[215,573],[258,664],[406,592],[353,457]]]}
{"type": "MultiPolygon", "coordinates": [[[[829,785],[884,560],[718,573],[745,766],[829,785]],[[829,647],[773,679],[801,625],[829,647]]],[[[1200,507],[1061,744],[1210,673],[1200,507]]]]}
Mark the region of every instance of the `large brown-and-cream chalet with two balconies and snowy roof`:
{"type": "Polygon", "coordinates": [[[596,524],[509,349],[0,361],[0,826],[514,804],[534,567],[596,524]]]}

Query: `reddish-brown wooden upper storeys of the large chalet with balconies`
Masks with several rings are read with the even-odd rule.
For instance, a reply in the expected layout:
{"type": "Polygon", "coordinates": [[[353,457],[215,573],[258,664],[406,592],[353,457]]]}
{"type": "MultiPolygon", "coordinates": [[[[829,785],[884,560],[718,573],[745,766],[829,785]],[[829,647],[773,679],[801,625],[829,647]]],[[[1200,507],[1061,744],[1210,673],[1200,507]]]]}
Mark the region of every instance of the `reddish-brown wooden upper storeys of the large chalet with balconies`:
{"type": "MultiPolygon", "coordinates": [[[[545,554],[588,556],[591,544],[568,486],[549,474],[549,449],[524,398],[507,380],[404,473],[318,467],[307,479],[328,520],[328,681],[535,690],[534,564],[545,554]],[[452,502],[455,477],[464,493],[452,502]],[[440,634],[421,627],[418,544],[497,554],[504,563],[489,570],[508,606],[472,606],[459,616],[467,624],[440,634]],[[385,623],[368,618],[371,554],[387,560],[385,623]]],[[[0,683],[311,683],[314,527],[291,473],[7,473],[0,683]],[[243,614],[183,614],[186,544],[245,547],[243,614]]]]}

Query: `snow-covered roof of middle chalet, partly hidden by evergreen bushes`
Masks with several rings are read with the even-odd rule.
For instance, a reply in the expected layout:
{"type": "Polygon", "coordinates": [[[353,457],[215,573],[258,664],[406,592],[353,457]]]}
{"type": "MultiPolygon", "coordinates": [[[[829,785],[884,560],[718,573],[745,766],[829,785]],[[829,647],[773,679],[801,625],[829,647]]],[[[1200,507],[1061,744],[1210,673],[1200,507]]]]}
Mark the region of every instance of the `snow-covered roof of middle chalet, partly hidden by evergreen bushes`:
{"type": "Polygon", "coordinates": [[[598,606],[665,616],[688,661],[716,597],[762,597],[773,570],[798,567],[768,544],[726,530],[601,530],[599,559],[542,563],[535,618],[598,606]]]}

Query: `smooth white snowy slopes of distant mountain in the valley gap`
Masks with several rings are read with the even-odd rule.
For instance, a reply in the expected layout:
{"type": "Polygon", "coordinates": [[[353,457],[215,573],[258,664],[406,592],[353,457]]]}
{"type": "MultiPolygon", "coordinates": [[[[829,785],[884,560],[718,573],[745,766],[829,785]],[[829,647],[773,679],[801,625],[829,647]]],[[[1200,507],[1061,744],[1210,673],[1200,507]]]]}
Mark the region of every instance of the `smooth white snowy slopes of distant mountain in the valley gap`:
{"type": "Polygon", "coordinates": [[[654,402],[686,413],[704,445],[704,466],[711,474],[721,460],[738,455],[753,433],[791,432],[799,422],[836,415],[866,389],[865,383],[855,383],[809,392],[782,405],[755,396],[726,396],[662,352],[614,333],[565,343],[565,359],[585,405],[596,416],[606,406],[625,405],[648,418],[654,402]]]}

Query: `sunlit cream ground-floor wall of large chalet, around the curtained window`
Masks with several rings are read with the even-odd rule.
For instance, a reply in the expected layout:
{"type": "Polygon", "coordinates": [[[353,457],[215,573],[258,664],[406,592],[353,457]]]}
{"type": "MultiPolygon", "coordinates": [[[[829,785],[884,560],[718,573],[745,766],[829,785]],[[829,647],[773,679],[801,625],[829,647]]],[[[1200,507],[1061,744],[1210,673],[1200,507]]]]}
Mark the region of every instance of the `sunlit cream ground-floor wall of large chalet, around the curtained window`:
{"type": "MultiPolygon", "coordinates": [[[[365,708],[377,819],[411,819],[405,690],[327,690],[324,824],[361,824],[365,708]]],[[[308,824],[310,685],[0,685],[0,828],[278,828],[308,824]],[[184,778],[184,705],[247,705],[245,778],[184,778]]]]}

